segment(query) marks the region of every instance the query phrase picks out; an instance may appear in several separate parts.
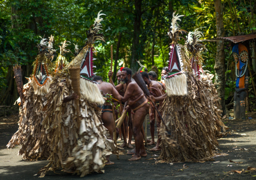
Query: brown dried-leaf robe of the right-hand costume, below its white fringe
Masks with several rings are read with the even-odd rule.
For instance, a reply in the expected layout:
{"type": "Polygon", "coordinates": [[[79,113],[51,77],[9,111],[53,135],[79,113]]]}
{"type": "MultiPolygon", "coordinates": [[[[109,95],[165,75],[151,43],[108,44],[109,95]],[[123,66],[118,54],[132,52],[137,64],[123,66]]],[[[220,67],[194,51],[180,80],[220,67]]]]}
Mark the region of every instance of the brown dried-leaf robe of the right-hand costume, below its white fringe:
{"type": "Polygon", "coordinates": [[[210,81],[199,80],[187,73],[187,96],[166,97],[161,107],[163,119],[170,129],[161,124],[160,154],[167,162],[190,162],[209,159],[217,149],[217,135],[221,121],[217,91],[210,81]]]}

